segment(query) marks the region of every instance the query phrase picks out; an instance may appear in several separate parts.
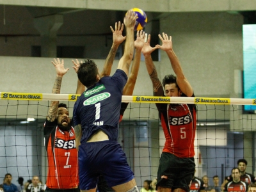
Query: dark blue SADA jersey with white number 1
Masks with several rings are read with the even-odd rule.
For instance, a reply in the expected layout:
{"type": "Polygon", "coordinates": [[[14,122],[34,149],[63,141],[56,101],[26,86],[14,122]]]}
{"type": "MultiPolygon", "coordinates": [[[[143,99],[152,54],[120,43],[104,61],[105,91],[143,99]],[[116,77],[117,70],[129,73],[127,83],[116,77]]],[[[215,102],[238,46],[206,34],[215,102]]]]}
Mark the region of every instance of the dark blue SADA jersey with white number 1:
{"type": "Polygon", "coordinates": [[[122,92],[126,82],[127,75],[118,69],[112,77],[102,77],[77,99],[73,120],[75,126],[81,124],[81,143],[99,130],[104,131],[109,140],[117,141],[122,92]]]}

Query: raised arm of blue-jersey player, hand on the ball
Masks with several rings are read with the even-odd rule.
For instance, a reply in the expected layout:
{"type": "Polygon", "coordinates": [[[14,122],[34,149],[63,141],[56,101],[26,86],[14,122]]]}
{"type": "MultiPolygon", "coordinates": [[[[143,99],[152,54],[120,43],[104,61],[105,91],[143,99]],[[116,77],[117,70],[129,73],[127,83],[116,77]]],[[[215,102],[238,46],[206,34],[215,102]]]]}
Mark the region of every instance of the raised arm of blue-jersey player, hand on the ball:
{"type": "Polygon", "coordinates": [[[132,10],[129,10],[124,17],[124,24],[126,27],[126,41],[124,47],[124,55],[118,63],[118,69],[124,70],[124,72],[129,74],[129,67],[131,65],[134,49],[134,26],[136,22],[136,15],[132,10]]]}

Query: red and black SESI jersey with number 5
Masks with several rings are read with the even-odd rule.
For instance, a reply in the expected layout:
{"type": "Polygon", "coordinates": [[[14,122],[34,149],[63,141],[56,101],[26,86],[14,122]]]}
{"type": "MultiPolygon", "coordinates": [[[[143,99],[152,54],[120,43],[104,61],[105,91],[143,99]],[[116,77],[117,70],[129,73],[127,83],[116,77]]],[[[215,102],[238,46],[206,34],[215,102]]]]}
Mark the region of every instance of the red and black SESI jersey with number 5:
{"type": "MultiPolygon", "coordinates": [[[[163,91],[163,87],[161,89],[163,91]]],[[[157,95],[157,93],[154,92],[154,95],[157,95]]],[[[187,97],[184,93],[181,96],[187,97]]],[[[192,97],[195,97],[194,94],[192,97]]],[[[163,152],[168,152],[182,158],[194,157],[196,132],[195,104],[157,103],[156,106],[166,139],[163,152]]]]}

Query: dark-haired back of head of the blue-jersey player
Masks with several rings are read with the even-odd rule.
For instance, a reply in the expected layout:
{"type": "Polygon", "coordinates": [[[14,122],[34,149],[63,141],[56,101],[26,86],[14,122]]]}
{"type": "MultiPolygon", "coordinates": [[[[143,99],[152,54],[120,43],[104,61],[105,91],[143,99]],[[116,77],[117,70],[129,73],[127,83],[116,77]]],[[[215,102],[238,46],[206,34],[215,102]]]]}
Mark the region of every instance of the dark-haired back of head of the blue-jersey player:
{"type": "Polygon", "coordinates": [[[82,63],[77,70],[79,81],[86,87],[92,86],[97,82],[97,74],[99,74],[98,68],[93,60],[84,60],[84,63],[82,63]]]}

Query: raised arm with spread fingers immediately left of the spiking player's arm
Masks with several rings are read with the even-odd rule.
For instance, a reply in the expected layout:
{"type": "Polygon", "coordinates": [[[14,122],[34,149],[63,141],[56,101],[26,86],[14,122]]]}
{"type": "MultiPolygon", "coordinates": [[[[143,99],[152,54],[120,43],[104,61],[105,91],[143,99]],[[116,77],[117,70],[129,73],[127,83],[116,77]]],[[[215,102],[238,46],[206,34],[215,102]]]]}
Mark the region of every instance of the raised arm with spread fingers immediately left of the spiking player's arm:
{"type": "Polygon", "coordinates": [[[113,61],[116,56],[116,51],[117,51],[119,45],[122,44],[122,42],[124,42],[125,37],[126,37],[126,36],[122,35],[123,30],[124,30],[124,24],[121,25],[120,21],[118,22],[118,24],[117,24],[117,22],[115,23],[115,31],[111,26],[110,26],[110,29],[113,32],[113,44],[109,51],[108,57],[106,58],[106,61],[104,63],[104,67],[100,74],[100,77],[110,75],[113,61]]]}

